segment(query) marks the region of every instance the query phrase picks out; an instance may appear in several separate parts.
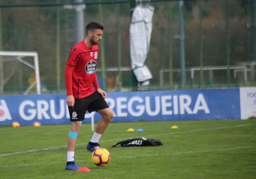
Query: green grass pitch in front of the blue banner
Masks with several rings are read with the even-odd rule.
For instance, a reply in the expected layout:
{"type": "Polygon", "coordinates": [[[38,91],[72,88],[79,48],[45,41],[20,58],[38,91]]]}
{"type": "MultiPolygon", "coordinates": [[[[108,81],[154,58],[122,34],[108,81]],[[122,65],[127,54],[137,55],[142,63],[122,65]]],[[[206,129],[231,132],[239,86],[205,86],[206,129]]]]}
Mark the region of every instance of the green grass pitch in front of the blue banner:
{"type": "Polygon", "coordinates": [[[105,167],[85,147],[90,124],[78,134],[75,160],[91,172],[64,170],[70,125],[0,127],[1,179],[253,179],[256,120],[111,123],[100,145],[111,154],[105,167]],[[171,129],[177,125],[178,129],[171,129]],[[127,132],[142,128],[143,132],[127,132]],[[157,147],[116,147],[132,137],[159,139],[157,147]]]}

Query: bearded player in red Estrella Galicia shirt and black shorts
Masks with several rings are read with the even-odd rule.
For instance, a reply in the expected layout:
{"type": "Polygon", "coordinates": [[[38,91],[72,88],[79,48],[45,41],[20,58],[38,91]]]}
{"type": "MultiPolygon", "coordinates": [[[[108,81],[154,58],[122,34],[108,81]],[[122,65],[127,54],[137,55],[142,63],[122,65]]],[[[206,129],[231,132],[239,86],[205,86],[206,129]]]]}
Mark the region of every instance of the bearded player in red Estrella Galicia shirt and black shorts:
{"type": "Polygon", "coordinates": [[[67,105],[71,121],[71,130],[67,140],[66,170],[80,167],[74,162],[76,138],[85,119],[86,110],[97,111],[102,118],[97,123],[92,139],[86,149],[92,152],[100,148],[98,144],[102,133],[112,120],[114,113],[104,100],[106,92],[99,88],[96,75],[98,44],[102,39],[104,27],[97,22],[86,26],[86,38],[72,47],[67,61],[65,80],[67,88],[67,105]]]}

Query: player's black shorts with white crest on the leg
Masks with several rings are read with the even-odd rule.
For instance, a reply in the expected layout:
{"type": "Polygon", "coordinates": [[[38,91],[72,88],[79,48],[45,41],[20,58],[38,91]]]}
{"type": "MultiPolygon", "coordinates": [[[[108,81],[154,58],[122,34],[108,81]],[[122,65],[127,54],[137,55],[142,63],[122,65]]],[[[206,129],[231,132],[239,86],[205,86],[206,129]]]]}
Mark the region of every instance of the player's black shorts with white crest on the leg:
{"type": "Polygon", "coordinates": [[[86,110],[91,113],[106,108],[109,108],[109,105],[97,91],[85,98],[75,98],[74,107],[68,106],[70,121],[83,121],[86,110]]]}

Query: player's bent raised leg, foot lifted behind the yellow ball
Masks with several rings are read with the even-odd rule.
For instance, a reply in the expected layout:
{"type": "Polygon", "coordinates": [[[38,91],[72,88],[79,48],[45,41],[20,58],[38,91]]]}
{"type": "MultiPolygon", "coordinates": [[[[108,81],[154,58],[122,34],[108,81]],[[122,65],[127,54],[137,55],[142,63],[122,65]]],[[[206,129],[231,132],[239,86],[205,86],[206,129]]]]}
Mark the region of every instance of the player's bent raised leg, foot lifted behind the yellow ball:
{"type": "Polygon", "coordinates": [[[95,132],[90,140],[89,144],[87,145],[86,149],[92,152],[95,149],[99,149],[100,145],[98,144],[102,133],[106,130],[107,126],[111,122],[112,118],[114,117],[114,113],[110,108],[106,108],[103,110],[98,110],[102,118],[96,125],[95,132]]]}

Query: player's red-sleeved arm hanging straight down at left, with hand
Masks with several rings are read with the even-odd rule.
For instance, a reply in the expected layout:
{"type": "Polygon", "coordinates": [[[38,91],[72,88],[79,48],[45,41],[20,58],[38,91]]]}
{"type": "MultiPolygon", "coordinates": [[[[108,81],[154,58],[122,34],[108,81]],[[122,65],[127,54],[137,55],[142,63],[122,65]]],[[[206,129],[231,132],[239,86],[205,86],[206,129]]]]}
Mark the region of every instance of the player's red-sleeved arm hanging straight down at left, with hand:
{"type": "Polygon", "coordinates": [[[67,89],[67,105],[74,106],[74,96],[72,90],[72,73],[74,70],[74,66],[68,65],[66,66],[65,70],[65,82],[66,82],[66,89],[67,89]]]}

